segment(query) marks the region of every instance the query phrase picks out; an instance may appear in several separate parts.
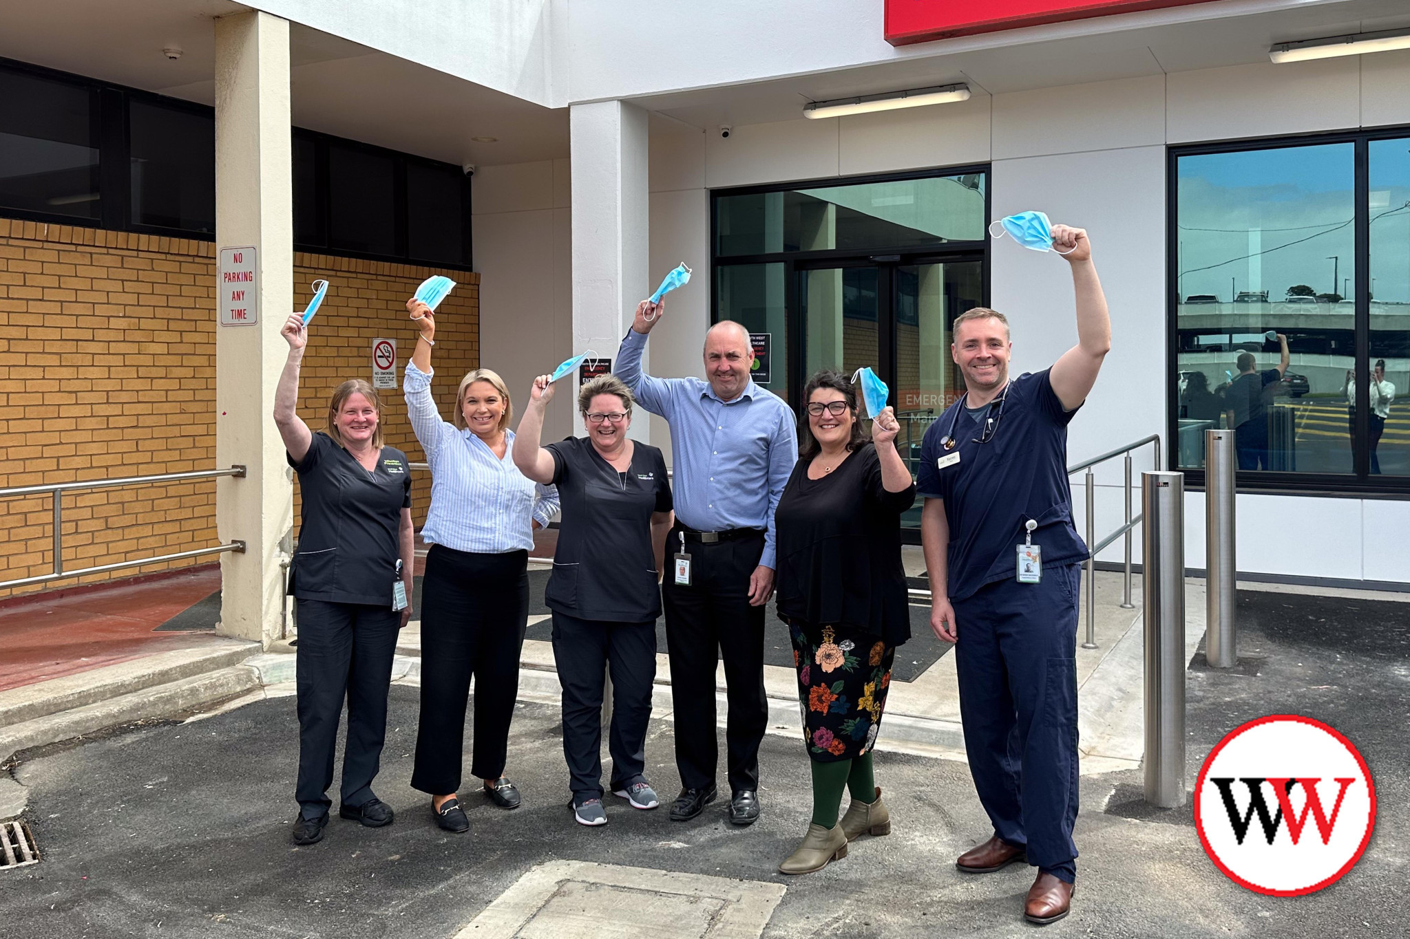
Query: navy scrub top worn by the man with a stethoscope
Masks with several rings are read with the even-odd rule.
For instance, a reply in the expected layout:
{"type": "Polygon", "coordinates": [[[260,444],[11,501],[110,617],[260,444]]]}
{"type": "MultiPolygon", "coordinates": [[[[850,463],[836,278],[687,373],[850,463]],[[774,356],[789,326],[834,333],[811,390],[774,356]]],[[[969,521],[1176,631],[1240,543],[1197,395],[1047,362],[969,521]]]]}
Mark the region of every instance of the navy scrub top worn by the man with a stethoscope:
{"type": "Polygon", "coordinates": [[[1043,567],[1087,557],[1072,522],[1066,466],[1067,424],[1077,410],[1063,410],[1048,373],[1014,379],[1007,400],[994,398],[980,420],[960,412],[966,400],[960,398],[925,431],[915,481],[921,496],[945,501],[950,600],[1017,576],[1017,546],[1024,543],[1029,519],[1038,522],[1034,543],[1042,548],[1043,567]],[[980,443],[990,418],[994,434],[980,443]],[[952,427],[956,446],[946,449],[952,427]],[[955,453],[957,463],[939,466],[955,453]]]}

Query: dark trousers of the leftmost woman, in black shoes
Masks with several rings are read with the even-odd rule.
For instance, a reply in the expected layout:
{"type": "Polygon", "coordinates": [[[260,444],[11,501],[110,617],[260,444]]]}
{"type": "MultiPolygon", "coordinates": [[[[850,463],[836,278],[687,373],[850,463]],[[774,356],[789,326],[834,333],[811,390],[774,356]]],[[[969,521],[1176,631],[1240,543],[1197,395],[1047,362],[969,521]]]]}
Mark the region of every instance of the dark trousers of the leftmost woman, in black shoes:
{"type": "Polygon", "coordinates": [[[343,701],[348,704],[348,741],[343,752],[344,805],[372,795],[372,780],[386,739],[386,690],[400,611],[355,603],[295,600],[299,687],[299,783],[295,798],[305,818],[329,811],[333,755],[343,701]]]}

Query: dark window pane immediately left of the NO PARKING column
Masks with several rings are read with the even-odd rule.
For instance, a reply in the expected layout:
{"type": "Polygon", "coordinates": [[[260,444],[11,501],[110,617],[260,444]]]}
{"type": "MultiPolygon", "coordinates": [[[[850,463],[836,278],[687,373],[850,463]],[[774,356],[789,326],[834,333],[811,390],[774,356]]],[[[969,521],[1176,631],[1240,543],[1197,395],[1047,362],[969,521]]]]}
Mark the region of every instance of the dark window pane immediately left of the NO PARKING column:
{"type": "Polygon", "coordinates": [[[216,231],[216,118],[128,101],[133,222],[216,231]]]}

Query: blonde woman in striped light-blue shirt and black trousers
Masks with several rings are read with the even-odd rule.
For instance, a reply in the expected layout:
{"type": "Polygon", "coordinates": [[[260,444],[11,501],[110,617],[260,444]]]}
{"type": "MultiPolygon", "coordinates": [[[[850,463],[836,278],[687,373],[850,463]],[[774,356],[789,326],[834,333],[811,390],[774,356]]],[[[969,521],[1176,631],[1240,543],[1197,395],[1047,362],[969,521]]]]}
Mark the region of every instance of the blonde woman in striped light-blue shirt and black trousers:
{"type": "Polygon", "coordinates": [[[475,369],[460,382],[454,424],[431,398],[436,318],[410,300],[420,328],[402,390],[412,429],[431,467],[431,505],[422,539],[422,714],[412,787],[431,795],[446,831],[470,828],[455,790],[464,757],[465,702],[475,677],[475,756],[471,773],[501,808],[517,808],[505,777],[509,721],[519,694],[519,653],[529,618],[533,531],[558,511],[558,493],[525,479],[513,462],[513,407],[503,380],[475,369]]]}

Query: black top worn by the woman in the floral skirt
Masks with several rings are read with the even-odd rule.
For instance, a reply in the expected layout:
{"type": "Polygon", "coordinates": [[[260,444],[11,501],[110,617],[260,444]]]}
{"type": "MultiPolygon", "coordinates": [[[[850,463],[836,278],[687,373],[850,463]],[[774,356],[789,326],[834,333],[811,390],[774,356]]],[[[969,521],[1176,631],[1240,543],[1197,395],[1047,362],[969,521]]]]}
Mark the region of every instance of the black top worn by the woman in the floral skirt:
{"type": "Polygon", "coordinates": [[[912,503],[915,486],[888,493],[881,484],[870,442],[822,479],[808,479],[808,462],[798,460],[774,515],[778,615],[849,625],[890,646],[909,639],[901,512],[912,503]]]}

